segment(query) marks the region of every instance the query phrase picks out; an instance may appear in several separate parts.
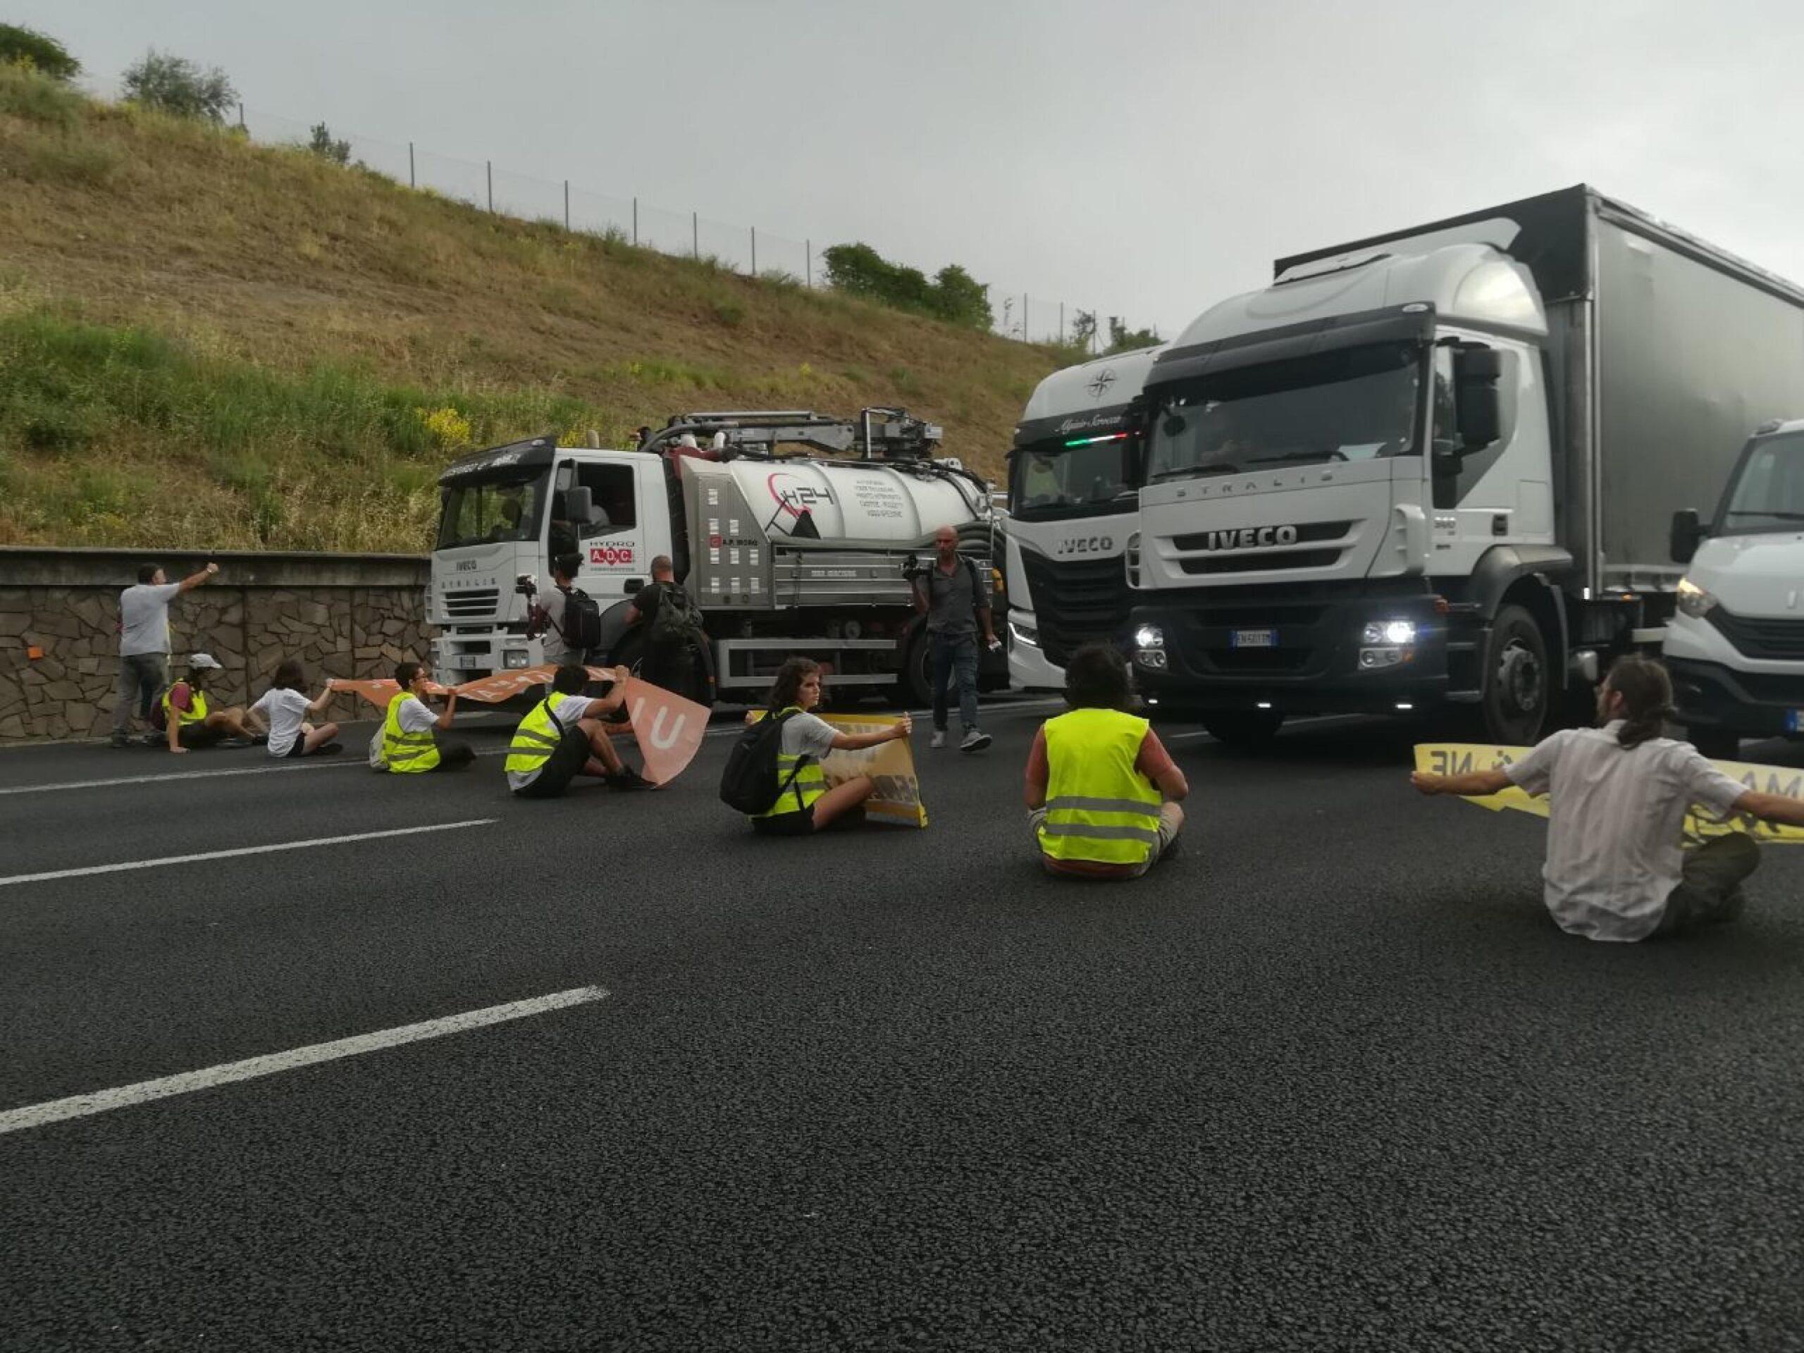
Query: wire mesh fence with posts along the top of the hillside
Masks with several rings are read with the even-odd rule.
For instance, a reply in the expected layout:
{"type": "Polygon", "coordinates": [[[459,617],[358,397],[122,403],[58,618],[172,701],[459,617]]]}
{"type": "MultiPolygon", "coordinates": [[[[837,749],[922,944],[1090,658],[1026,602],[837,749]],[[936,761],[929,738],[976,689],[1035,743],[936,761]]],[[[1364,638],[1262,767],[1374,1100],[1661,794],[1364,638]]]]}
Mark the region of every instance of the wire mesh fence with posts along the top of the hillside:
{"type": "MultiPolygon", "coordinates": [[[[292,117],[238,110],[238,124],[253,141],[271,146],[312,146],[316,126],[292,117]]],[[[805,287],[826,285],[826,269],[814,240],[711,220],[698,211],[671,211],[639,197],[613,197],[565,180],[514,173],[492,161],[469,161],[337,128],[318,133],[321,153],[373,170],[399,184],[440,193],[483,211],[520,220],[608,235],[644,249],[680,258],[707,258],[747,276],[779,278],[805,287]]],[[[1026,290],[987,287],[992,328],[1023,343],[1075,345],[1081,316],[1090,316],[1088,350],[1097,352],[1095,308],[1081,308],[1026,290]]]]}

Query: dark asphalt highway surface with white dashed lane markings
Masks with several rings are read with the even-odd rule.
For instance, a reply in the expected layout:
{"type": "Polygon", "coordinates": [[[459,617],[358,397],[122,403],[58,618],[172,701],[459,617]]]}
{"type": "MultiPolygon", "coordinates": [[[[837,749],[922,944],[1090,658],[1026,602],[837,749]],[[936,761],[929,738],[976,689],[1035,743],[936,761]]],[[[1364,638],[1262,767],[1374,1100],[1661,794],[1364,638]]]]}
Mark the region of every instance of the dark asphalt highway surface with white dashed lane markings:
{"type": "Polygon", "coordinates": [[[1411,731],[1171,727],[1183,853],[1055,880],[1045,713],[819,841],[725,736],[556,803],[494,727],[0,754],[0,1113],[108,1106],[4,1120],[0,1348],[1804,1348],[1804,848],[1595,945],[1411,731]]]}

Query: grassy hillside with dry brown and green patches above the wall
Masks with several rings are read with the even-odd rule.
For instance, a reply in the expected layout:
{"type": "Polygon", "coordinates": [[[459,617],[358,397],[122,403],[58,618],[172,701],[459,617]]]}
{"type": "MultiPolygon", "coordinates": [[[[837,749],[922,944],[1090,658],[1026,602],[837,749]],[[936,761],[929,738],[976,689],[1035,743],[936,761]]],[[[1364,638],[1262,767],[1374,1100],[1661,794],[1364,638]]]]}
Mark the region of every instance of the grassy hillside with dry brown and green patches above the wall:
{"type": "Polygon", "coordinates": [[[462,447],[902,404],[990,476],[1055,348],[0,70],[0,543],[422,550],[462,447]]]}

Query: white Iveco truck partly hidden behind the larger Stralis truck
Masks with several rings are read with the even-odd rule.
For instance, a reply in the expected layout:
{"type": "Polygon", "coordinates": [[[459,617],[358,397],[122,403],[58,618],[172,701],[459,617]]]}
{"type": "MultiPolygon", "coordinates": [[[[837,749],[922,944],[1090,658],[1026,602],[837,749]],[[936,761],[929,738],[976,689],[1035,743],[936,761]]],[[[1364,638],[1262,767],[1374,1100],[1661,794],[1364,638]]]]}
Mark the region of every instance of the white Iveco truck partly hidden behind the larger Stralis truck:
{"type": "Polygon", "coordinates": [[[1054,372],[1028,397],[1008,451],[1008,676],[1059,687],[1072,653],[1118,644],[1128,624],[1122,550],[1140,485],[1129,417],[1160,348],[1054,372]]]}

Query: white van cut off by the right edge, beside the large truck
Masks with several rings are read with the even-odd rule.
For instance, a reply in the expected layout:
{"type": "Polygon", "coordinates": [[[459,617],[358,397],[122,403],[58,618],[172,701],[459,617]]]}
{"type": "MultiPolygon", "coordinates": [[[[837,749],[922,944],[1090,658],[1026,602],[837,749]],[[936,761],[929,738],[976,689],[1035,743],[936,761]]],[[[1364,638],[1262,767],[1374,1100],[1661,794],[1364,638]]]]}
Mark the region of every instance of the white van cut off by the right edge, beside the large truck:
{"type": "Polygon", "coordinates": [[[1685,565],[1663,655],[1705,756],[1804,736],[1804,419],[1763,424],[1708,521],[1672,518],[1685,565]]]}

